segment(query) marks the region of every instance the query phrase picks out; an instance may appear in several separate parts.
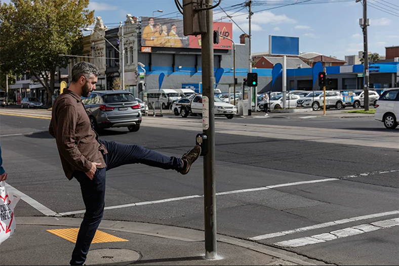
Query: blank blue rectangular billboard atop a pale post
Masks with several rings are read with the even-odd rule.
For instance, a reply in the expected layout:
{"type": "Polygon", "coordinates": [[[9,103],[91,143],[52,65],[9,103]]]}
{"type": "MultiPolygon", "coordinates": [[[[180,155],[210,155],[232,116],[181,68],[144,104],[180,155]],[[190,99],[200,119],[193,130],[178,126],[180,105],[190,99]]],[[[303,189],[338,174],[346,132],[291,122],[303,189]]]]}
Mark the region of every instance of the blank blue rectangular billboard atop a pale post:
{"type": "Polygon", "coordinates": [[[299,37],[269,35],[270,55],[299,55],[299,37]]]}

